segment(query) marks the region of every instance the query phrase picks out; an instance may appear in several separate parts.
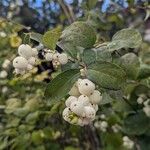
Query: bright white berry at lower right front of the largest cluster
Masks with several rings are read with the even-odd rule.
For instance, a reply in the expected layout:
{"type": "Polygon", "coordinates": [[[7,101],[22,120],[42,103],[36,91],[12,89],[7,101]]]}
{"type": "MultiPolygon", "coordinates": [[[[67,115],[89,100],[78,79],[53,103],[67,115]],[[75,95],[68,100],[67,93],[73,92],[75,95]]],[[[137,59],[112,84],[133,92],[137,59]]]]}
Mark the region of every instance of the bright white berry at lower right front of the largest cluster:
{"type": "Polygon", "coordinates": [[[87,118],[90,118],[90,119],[95,119],[95,114],[96,114],[96,111],[93,107],[91,106],[85,106],[84,107],[84,111],[85,111],[85,116],[87,118]]]}

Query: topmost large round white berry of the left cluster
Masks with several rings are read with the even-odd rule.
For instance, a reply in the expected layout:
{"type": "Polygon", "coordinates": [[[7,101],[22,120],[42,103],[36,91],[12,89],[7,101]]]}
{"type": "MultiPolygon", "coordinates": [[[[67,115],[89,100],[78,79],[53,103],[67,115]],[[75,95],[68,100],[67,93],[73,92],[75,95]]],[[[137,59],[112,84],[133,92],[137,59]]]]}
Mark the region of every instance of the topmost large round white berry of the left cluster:
{"type": "Polygon", "coordinates": [[[18,54],[29,59],[32,56],[32,48],[28,44],[22,44],[18,48],[18,54]]]}

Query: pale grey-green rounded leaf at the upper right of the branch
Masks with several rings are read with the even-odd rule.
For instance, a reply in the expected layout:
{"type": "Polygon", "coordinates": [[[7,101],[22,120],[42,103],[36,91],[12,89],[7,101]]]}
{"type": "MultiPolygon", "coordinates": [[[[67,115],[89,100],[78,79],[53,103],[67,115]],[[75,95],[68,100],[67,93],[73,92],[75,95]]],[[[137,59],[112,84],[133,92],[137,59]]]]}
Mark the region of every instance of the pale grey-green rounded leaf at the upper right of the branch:
{"type": "Polygon", "coordinates": [[[121,48],[138,48],[141,45],[142,37],[135,29],[123,29],[118,31],[108,44],[109,51],[121,48]]]}

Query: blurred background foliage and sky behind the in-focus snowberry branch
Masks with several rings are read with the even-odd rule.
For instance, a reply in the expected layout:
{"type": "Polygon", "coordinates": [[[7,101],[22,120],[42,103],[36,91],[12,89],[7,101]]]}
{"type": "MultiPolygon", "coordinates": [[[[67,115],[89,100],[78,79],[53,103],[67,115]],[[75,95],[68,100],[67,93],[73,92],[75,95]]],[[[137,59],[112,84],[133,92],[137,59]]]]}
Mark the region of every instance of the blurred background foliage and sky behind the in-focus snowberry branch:
{"type": "MultiPolygon", "coordinates": [[[[135,142],[134,149],[140,147],[141,150],[149,150],[150,130],[145,134],[142,127],[138,128],[137,134],[130,135],[130,132],[121,129],[122,118],[132,112],[126,103],[114,102],[102,106],[95,126],[69,125],[61,117],[64,102],[47,104],[43,98],[43,87],[46,85],[43,80],[51,79],[56,72],[49,77],[48,72],[43,71],[47,65],[45,64],[44,69],[40,68],[43,71],[40,74],[34,68],[18,77],[14,76],[11,65],[17,47],[28,40],[26,33],[34,31],[43,34],[57,26],[65,28],[75,20],[88,20],[97,30],[97,42],[110,40],[122,28],[138,29],[143,37],[138,55],[149,65],[149,16],[150,6],[147,0],[1,0],[0,149],[126,150],[122,146],[122,137],[129,135],[135,142]],[[118,111],[115,112],[110,105],[118,111]],[[108,123],[107,132],[98,125],[100,120],[108,123]]],[[[37,46],[33,41],[30,43],[37,46]]],[[[54,71],[53,68],[51,70],[54,71]]],[[[127,93],[132,94],[133,103],[137,98],[136,91],[140,88],[149,91],[150,80],[143,82],[146,82],[146,87],[135,88],[132,85],[126,89],[127,93]]],[[[113,101],[108,95],[106,99],[113,101]]]]}

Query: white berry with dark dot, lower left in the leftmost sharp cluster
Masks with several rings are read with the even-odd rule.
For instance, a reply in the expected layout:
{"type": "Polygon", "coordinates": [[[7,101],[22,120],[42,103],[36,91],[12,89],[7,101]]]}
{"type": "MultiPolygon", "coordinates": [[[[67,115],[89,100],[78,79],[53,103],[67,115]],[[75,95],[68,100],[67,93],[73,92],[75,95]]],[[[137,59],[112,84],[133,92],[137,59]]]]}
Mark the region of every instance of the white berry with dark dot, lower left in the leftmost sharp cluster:
{"type": "Polygon", "coordinates": [[[24,57],[18,56],[13,60],[14,68],[25,69],[27,65],[28,65],[28,61],[24,57]]]}

